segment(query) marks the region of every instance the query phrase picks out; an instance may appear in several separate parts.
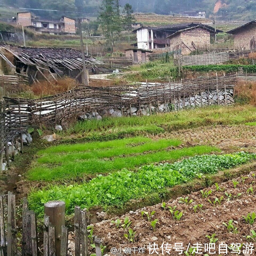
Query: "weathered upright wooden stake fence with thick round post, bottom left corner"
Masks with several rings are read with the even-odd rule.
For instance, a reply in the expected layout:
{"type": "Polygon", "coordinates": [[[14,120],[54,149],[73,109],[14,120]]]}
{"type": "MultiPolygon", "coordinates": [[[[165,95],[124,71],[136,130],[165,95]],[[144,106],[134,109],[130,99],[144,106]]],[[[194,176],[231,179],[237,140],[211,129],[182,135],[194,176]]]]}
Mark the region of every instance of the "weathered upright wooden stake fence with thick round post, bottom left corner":
{"type": "MultiPolygon", "coordinates": [[[[15,194],[0,195],[0,255],[1,256],[67,256],[68,228],[65,227],[65,203],[51,201],[45,204],[43,219],[43,243],[38,239],[37,216],[29,210],[28,201],[23,198],[22,222],[17,227],[15,194]],[[63,207],[59,207],[59,205],[63,207]],[[48,207],[50,206],[50,207],[48,207]],[[58,220],[63,216],[62,222],[58,220]],[[51,221],[55,222],[52,223],[51,221]],[[62,225],[61,225],[62,224],[62,225]],[[21,230],[21,246],[18,246],[17,232],[21,230]]],[[[75,207],[75,256],[88,256],[87,212],[75,207]]],[[[95,244],[96,256],[101,256],[101,239],[91,238],[95,244]]],[[[91,243],[92,241],[90,241],[91,243]]]]}

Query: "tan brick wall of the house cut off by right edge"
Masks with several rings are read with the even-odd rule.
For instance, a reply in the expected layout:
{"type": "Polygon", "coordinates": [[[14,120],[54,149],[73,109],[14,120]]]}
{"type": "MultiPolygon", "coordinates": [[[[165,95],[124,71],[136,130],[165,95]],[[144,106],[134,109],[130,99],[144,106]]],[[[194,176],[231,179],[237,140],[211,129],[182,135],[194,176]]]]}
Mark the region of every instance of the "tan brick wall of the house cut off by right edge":
{"type": "MultiPolygon", "coordinates": [[[[243,50],[250,50],[250,41],[251,39],[256,38],[256,24],[252,23],[239,29],[235,38],[235,48],[242,48],[243,50]]],[[[256,41],[256,39],[255,39],[256,41]]]]}

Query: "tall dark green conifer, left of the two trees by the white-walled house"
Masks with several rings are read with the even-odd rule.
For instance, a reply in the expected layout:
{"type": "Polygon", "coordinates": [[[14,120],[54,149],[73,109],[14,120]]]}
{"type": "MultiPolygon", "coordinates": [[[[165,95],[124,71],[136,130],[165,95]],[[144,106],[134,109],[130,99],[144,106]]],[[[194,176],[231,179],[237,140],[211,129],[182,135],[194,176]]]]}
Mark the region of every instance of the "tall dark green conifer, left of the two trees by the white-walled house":
{"type": "Polygon", "coordinates": [[[111,40],[113,51],[114,35],[119,34],[122,30],[119,0],[103,0],[98,21],[106,38],[111,40]]]}

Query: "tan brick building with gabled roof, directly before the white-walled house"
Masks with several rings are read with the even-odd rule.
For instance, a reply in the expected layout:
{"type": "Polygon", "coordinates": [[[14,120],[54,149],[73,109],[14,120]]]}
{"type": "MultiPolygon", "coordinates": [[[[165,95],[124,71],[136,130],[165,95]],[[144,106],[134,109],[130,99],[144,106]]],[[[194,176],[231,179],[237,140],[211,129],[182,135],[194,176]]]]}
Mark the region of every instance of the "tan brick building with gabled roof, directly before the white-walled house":
{"type": "Polygon", "coordinates": [[[214,30],[197,25],[186,29],[181,29],[167,37],[170,40],[171,50],[181,49],[183,55],[189,54],[198,47],[210,45],[211,35],[217,34],[214,30]]]}

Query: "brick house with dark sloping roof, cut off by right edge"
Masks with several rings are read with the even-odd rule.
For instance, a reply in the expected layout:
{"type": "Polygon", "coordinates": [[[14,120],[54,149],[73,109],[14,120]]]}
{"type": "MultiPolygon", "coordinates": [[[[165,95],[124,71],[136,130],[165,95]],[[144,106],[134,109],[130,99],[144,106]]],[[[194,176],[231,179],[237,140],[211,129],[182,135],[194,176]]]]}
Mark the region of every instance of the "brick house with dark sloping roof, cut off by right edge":
{"type": "Polygon", "coordinates": [[[234,35],[235,48],[243,50],[256,49],[256,20],[231,29],[226,33],[234,35]]]}

